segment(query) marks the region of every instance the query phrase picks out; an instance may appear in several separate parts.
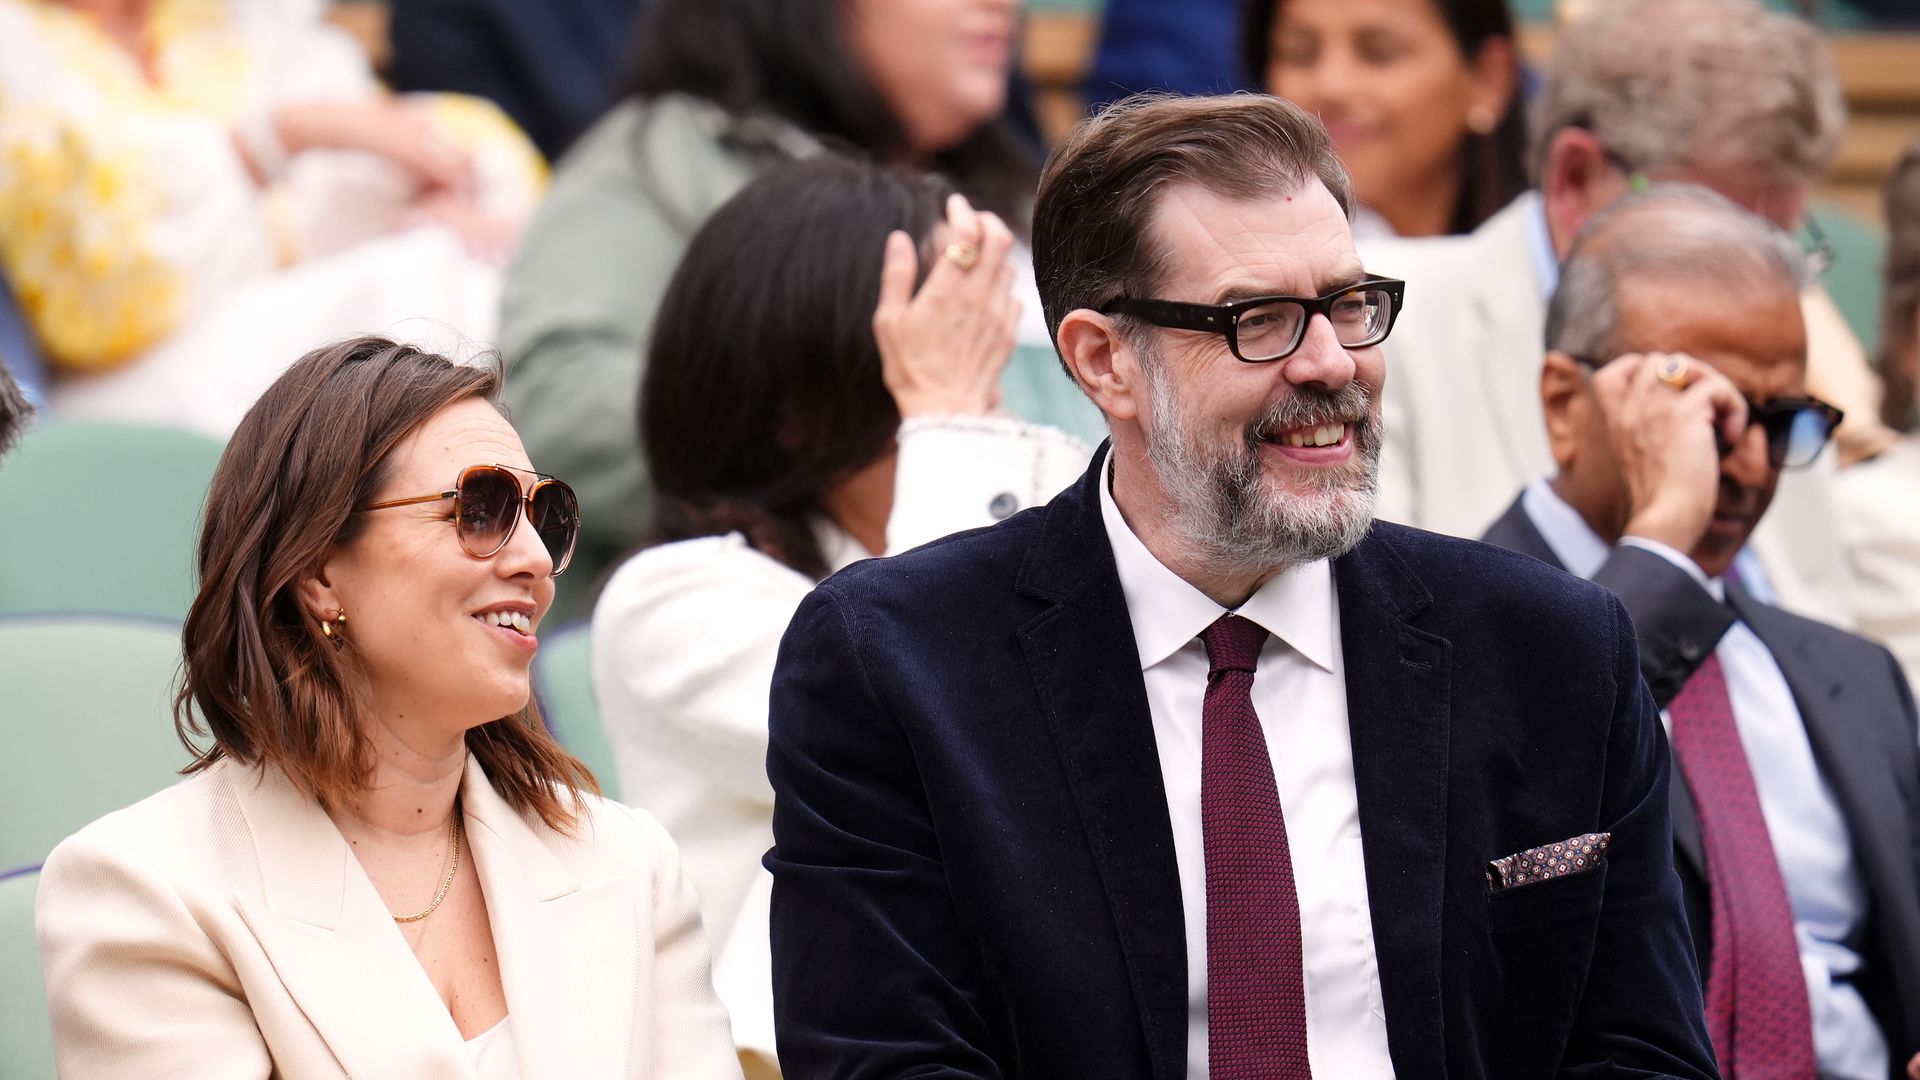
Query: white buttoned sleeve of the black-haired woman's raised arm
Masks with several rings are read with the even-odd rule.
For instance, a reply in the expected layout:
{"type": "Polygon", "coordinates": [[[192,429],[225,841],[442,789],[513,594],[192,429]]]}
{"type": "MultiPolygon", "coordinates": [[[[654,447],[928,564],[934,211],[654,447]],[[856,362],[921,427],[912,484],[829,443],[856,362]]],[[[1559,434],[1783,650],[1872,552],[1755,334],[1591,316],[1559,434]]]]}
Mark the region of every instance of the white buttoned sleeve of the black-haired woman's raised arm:
{"type": "Polygon", "coordinates": [[[1006,417],[900,425],[887,553],[1041,505],[1079,479],[1092,450],[1056,429],[1006,417]]]}

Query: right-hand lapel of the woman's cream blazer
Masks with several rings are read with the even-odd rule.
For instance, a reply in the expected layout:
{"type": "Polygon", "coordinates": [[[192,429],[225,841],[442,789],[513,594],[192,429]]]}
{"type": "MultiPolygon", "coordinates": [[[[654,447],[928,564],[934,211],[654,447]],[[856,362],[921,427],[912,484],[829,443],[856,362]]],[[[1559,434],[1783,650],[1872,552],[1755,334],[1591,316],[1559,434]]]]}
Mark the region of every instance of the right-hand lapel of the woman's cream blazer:
{"type": "Polygon", "coordinates": [[[645,967],[632,886],[622,878],[582,888],[549,847],[574,842],[528,824],[474,759],[467,761],[461,799],[520,1074],[632,1076],[636,972],[645,967]],[[611,1038],[614,1032],[626,1038],[611,1038]]]}

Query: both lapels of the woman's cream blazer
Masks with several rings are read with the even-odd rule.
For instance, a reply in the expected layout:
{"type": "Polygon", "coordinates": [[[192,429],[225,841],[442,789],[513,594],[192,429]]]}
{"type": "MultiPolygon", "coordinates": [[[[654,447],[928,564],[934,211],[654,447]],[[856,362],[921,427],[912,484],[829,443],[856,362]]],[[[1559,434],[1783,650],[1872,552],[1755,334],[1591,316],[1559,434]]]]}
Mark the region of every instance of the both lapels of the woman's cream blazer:
{"type": "MultiPolygon", "coordinates": [[[[261,874],[259,903],[242,896],[240,913],[342,1068],[467,1076],[453,1017],[334,822],[276,769],[227,774],[261,874]]],[[[636,951],[630,888],[582,888],[551,846],[568,842],[515,813],[472,757],[461,801],[522,1076],[624,1076],[624,1057],[595,1049],[632,1045],[611,1036],[634,1019],[632,961],[620,959],[636,951]]]]}

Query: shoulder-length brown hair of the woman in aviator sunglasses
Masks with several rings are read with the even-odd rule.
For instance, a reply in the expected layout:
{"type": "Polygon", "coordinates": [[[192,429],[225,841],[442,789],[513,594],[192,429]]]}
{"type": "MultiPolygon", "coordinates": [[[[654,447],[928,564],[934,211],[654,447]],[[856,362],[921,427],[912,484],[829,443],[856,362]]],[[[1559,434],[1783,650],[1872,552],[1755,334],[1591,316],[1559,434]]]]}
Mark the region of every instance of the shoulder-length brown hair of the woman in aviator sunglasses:
{"type": "MultiPolygon", "coordinates": [[[[363,721],[367,673],[307,619],[296,582],[353,540],[388,457],[440,409],[499,405],[497,367],[468,367],[386,338],[351,338],[300,357],[234,430],[207,490],[200,594],[186,615],[173,726],[194,751],[184,773],[221,759],[273,765],[336,807],[372,780],[363,721]],[[200,746],[211,736],[211,746],[200,746]]],[[[593,774],[528,701],[467,732],[493,788],[520,813],[570,830],[593,774]]]]}

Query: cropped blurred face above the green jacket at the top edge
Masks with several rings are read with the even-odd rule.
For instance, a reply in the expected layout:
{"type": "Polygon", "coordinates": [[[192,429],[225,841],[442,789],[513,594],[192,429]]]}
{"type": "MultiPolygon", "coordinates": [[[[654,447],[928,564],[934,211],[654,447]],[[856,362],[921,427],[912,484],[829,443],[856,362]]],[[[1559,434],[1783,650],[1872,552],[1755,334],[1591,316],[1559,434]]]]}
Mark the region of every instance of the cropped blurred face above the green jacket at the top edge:
{"type": "Polygon", "coordinates": [[[916,154],[958,146],[1006,108],[1020,0],[841,0],[849,46],[916,154]]]}

